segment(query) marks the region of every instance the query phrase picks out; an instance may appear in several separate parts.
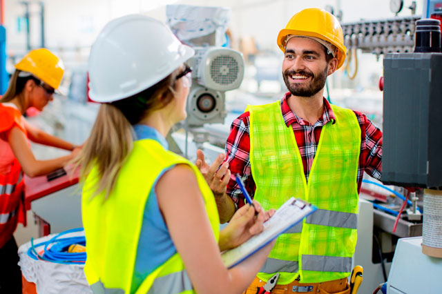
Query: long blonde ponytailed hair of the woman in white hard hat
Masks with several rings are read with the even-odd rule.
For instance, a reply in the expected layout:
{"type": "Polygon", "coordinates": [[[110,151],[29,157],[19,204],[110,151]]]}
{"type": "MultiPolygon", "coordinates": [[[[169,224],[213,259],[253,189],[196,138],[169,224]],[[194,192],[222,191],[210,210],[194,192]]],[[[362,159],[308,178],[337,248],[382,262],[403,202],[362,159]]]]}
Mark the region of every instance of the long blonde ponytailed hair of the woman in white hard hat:
{"type": "Polygon", "coordinates": [[[93,197],[104,192],[106,200],[115,188],[119,170],[133,148],[132,126],[172,101],[176,76],[177,70],[137,95],[100,106],[90,137],[78,157],[83,181],[93,167],[97,168],[99,179],[93,186],[93,197]]]}

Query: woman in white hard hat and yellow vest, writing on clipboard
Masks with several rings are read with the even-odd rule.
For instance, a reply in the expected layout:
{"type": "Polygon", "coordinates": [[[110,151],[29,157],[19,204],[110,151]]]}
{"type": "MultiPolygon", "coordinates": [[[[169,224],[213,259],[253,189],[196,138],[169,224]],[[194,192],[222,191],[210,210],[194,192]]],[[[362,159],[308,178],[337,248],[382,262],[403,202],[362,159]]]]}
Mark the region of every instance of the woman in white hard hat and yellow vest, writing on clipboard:
{"type": "Polygon", "coordinates": [[[220,251],[262,231],[265,211],[244,206],[220,232],[204,177],[167,150],[167,133],[186,117],[193,55],[142,15],[111,21],[92,46],[89,94],[102,106],[81,166],[94,293],[241,293],[273,245],[227,269],[220,251]]]}

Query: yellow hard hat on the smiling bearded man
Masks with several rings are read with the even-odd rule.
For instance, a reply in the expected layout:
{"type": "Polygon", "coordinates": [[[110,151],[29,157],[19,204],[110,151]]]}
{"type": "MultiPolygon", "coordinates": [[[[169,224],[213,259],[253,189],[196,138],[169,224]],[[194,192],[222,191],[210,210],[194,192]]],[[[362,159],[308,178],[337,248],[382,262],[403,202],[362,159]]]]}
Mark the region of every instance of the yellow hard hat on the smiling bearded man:
{"type": "Polygon", "coordinates": [[[347,48],[344,46],[343,28],[333,14],[320,8],[307,8],[296,13],[278,34],[276,43],[282,52],[285,52],[288,35],[316,37],[332,43],[338,48],[338,68],[343,65],[347,48]]]}

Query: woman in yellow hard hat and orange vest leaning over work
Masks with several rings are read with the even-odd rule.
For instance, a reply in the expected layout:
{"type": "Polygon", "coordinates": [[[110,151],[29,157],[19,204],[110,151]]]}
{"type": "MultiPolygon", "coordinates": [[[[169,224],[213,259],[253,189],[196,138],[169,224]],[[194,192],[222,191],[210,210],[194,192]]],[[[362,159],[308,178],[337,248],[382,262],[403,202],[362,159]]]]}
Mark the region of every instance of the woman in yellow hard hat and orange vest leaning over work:
{"type": "Polygon", "coordinates": [[[29,177],[45,175],[66,165],[79,151],[75,145],[32,126],[22,116],[28,108],[41,111],[52,101],[63,74],[63,63],[52,52],[32,50],[15,65],[8,89],[0,98],[0,293],[21,293],[18,248],[12,233],[17,222],[24,222],[26,217],[21,210],[23,173],[29,177]],[[28,139],[73,152],[38,160],[28,139]]]}

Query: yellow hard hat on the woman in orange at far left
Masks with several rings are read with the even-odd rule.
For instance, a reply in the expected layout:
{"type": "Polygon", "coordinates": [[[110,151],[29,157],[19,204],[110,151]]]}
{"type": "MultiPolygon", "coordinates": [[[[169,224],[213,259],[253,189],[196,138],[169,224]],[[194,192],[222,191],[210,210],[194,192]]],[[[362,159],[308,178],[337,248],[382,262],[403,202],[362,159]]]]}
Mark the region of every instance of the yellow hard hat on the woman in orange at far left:
{"type": "Polygon", "coordinates": [[[31,50],[15,68],[32,73],[54,89],[60,86],[64,74],[63,61],[46,48],[31,50]]]}

